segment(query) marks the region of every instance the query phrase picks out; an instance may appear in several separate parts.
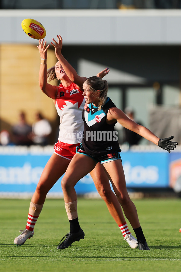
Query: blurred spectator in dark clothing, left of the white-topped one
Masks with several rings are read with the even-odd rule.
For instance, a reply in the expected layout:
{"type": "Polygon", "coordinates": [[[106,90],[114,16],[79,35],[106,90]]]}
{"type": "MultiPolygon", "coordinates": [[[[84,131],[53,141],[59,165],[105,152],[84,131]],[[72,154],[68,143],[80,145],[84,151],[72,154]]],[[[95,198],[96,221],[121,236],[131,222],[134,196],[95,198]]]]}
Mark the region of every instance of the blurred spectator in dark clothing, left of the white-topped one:
{"type": "Polygon", "coordinates": [[[24,112],[19,114],[19,122],[12,127],[13,142],[16,145],[31,145],[31,131],[32,128],[26,122],[26,115],[24,112]]]}

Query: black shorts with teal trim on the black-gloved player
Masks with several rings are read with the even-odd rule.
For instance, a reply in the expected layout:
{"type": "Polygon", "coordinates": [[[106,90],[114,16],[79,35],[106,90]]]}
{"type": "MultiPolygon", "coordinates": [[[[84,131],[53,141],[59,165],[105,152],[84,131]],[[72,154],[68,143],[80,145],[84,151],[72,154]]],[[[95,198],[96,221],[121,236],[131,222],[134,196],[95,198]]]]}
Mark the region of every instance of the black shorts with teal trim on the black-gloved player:
{"type": "Polygon", "coordinates": [[[100,164],[104,164],[106,162],[110,162],[113,160],[121,160],[121,156],[120,156],[119,152],[121,152],[120,148],[119,148],[119,150],[112,149],[107,152],[103,152],[103,154],[99,153],[99,154],[95,154],[94,156],[91,156],[85,152],[84,148],[82,147],[82,144],[80,144],[79,146],[76,147],[76,153],[88,156],[88,157],[92,158],[94,161],[96,161],[97,163],[100,162],[100,164]]]}

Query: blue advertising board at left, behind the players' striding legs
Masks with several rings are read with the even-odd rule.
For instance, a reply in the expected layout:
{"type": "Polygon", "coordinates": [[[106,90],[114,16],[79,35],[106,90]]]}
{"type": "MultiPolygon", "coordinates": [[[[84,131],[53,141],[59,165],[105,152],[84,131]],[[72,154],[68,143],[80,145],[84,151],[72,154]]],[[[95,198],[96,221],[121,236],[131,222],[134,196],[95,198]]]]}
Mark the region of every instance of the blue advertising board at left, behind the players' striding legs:
{"type": "MultiPolygon", "coordinates": [[[[0,155],[0,192],[33,193],[49,155],[0,155]]],[[[78,194],[97,192],[88,174],[75,187],[78,194]]],[[[62,193],[61,178],[50,193],[62,193]]]]}

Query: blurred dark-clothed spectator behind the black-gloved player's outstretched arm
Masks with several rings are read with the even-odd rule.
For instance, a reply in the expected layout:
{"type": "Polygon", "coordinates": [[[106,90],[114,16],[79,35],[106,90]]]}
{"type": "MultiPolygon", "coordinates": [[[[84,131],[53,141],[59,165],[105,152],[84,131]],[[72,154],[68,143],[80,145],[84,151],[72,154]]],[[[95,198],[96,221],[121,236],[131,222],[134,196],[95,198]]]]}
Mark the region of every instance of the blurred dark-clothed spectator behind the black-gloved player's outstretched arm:
{"type": "MultiPolygon", "coordinates": [[[[135,121],[139,125],[142,125],[141,122],[135,120],[135,112],[131,107],[125,108],[124,112],[131,120],[135,121]]],[[[128,144],[129,147],[131,147],[132,145],[139,144],[142,138],[143,137],[141,137],[134,131],[131,131],[123,127],[123,140],[122,140],[123,144],[128,144]]]]}

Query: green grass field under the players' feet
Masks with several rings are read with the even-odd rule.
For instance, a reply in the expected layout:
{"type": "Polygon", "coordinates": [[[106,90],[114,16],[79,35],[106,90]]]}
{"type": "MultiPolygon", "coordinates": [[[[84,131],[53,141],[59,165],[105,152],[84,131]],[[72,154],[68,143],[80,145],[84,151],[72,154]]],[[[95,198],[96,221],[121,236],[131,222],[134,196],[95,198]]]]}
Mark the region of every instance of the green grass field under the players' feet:
{"type": "MultiPolygon", "coordinates": [[[[0,271],[181,271],[181,199],[134,200],[150,251],[131,249],[101,199],[78,199],[85,239],[56,247],[69,232],[62,199],[47,199],[33,238],[13,244],[24,229],[30,200],[0,199],[0,271]]],[[[129,229],[134,234],[129,222],[129,229]]]]}

